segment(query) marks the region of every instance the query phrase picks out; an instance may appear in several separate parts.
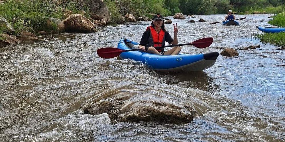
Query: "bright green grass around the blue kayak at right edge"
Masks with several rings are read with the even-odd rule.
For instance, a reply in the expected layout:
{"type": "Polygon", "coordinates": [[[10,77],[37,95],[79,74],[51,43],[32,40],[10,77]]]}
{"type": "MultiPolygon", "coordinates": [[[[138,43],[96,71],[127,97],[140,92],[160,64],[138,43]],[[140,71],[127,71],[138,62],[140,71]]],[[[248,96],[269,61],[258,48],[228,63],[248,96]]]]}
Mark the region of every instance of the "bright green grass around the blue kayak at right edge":
{"type": "MultiPolygon", "coordinates": [[[[268,21],[269,24],[279,27],[285,27],[285,12],[277,14],[273,20],[268,21]]],[[[285,32],[268,33],[268,34],[253,34],[254,38],[260,39],[261,42],[276,44],[285,47],[285,32]]]]}

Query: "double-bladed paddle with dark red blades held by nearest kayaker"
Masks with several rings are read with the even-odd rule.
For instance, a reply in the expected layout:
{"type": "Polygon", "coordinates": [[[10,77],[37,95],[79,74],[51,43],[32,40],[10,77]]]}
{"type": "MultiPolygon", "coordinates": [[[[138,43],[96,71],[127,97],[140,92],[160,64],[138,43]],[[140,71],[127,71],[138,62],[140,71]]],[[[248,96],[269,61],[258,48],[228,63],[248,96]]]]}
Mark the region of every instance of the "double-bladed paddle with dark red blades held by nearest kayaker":
{"type": "MultiPolygon", "coordinates": [[[[165,46],[159,46],[159,47],[154,47],[154,48],[159,49],[159,48],[164,48],[164,47],[174,47],[174,46],[183,46],[183,45],[193,45],[198,48],[206,48],[206,47],[209,47],[213,43],[213,40],[214,40],[213,37],[205,37],[205,38],[201,38],[196,41],[193,41],[192,43],[165,45],[165,46]]],[[[147,50],[148,48],[145,48],[145,49],[147,50]]],[[[97,49],[97,54],[101,58],[110,59],[110,58],[119,56],[122,52],[138,51],[138,50],[141,50],[141,49],[137,48],[137,49],[122,50],[122,49],[115,48],[115,47],[105,47],[105,48],[97,49]]]]}

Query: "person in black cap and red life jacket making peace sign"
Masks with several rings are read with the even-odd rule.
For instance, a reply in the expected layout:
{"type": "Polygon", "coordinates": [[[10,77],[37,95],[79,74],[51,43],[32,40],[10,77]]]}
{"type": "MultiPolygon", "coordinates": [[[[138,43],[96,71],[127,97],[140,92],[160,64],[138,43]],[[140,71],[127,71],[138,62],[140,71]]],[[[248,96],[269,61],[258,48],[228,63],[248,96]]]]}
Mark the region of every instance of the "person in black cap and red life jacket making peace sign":
{"type": "Polygon", "coordinates": [[[173,24],[174,27],[174,39],[170,36],[170,34],[164,28],[164,21],[161,14],[155,14],[153,16],[153,21],[151,22],[151,26],[146,28],[144,31],[143,36],[141,38],[141,42],[139,44],[139,48],[146,53],[158,54],[158,55],[178,55],[181,51],[180,46],[176,46],[168,51],[164,52],[164,48],[155,49],[154,47],[164,46],[165,42],[169,44],[176,45],[178,44],[177,39],[177,23],[176,25],[173,24]],[[147,51],[145,48],[147,48],[147,51]]]}

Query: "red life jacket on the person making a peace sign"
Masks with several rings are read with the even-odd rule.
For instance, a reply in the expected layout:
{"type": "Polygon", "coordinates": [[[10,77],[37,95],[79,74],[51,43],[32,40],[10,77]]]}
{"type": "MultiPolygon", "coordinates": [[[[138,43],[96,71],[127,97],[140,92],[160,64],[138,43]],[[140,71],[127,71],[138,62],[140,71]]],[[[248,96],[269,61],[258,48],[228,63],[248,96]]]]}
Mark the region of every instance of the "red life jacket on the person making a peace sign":
{"type": "MultiPolygon", "coordinates": [[[[148,37],[148,47],[158,47],[158,46],[164,46],[165,45],[165,32],[164,30],[160,29],[160,31],[157,33],[156,30],[149,26],[146,28],[146,30],[150,30],[150,36],[148,37]]],[[[162,49],[156,49],[159,52],[163,52],[164,48],[162,49]]]]}

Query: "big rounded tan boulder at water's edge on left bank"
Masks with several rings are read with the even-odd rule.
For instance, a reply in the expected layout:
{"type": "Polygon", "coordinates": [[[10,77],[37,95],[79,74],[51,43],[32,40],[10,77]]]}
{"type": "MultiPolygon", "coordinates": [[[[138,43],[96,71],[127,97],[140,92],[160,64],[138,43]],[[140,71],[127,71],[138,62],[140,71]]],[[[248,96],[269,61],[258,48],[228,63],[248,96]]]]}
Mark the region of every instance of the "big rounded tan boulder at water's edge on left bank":
{"type": "Polygon", "coordinates": [[[96,32],[96,25],[80,14],[71,14],[64,19],[65,30],[69,32],[96,32]]]}

